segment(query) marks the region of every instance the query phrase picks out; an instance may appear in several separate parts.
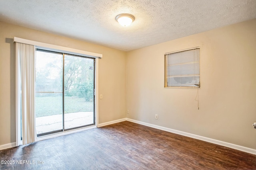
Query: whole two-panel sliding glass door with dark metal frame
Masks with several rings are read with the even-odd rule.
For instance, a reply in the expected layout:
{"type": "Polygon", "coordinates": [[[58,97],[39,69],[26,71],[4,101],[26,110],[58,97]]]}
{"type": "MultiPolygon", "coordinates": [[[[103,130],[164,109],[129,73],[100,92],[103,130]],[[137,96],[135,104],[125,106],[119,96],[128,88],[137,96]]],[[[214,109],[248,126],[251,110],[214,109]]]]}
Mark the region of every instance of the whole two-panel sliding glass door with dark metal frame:
{"type": "Polygon", "coordinates": [[[95,124],[93,58],[36,51],[38,136],[95,124]]]}

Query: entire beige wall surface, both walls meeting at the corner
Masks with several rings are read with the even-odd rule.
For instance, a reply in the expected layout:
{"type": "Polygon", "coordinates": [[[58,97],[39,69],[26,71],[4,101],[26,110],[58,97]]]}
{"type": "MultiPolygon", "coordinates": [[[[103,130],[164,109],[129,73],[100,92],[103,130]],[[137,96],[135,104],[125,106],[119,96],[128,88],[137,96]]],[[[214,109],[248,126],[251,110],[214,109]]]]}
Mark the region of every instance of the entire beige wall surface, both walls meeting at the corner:
{"type": "Polygon", "coordinates": [[[103,54],[99,123],[128,117],[256,149],[255,30],[250,20],[125,53],[0,22],[0,145],[16,141],[13,37],[20,37],[103,54]],[[164,89],[164,53],[198,46],[199,110],[197,90],[164,89]]]}

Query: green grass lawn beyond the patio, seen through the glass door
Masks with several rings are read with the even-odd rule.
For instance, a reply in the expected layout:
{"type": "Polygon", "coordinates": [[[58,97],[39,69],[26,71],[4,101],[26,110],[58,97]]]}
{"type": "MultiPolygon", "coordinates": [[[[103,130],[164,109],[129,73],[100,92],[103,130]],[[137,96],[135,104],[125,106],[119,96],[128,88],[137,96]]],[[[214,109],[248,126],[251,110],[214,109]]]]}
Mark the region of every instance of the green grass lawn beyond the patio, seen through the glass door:
{"type": "MultiPolygon", "coordinates": [[[[85,98],[65,96],[65,113],[93,111],[93,102],[85,98]]],[[[36,97],[36,117],[62,114],[62,96],[36,97]]]]}

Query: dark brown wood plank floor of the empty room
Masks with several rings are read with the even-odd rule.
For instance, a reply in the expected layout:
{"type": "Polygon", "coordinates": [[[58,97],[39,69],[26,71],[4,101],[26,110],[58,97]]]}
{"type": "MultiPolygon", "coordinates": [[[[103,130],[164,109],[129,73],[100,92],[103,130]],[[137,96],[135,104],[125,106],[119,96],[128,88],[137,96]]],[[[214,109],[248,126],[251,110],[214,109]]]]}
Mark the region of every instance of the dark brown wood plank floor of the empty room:
{"type": "Polygon", "coordinates": [[[0,160],[14,160],[1,170],[256,169],[256,155],[128,121],[1,150],[0,160]]]}

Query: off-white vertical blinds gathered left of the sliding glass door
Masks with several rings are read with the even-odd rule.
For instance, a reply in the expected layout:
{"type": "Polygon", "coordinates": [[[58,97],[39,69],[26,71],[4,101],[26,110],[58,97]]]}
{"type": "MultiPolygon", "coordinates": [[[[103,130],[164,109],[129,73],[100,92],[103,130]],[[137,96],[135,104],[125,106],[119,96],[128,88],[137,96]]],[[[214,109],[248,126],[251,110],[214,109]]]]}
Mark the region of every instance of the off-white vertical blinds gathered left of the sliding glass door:
{"type": "Polygon", "coordinates": [[[16,144],[36,141],[35,47],[16,42],[16,144]],[[21,121],[22,120],[22,121],[21,121]],[[21,134],[22,129],[22,135],[21,134]]]}

